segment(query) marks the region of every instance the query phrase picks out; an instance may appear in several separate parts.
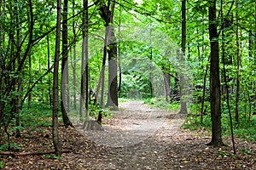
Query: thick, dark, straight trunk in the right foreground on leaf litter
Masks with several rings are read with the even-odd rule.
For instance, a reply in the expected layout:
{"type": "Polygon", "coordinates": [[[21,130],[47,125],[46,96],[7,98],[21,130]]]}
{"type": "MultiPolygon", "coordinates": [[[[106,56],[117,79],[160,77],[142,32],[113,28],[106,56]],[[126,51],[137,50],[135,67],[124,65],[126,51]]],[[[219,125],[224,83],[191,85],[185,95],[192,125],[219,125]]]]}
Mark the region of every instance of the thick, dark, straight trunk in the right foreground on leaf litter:
{"type": "Polygon", "coordinates": [[[218,59],[218,32],[216,18],[216,0],[211,1],[209,12],[209,38],[211,42],[210,57],[210,99],[212,117],[212,141],[209,145],[223,145],[221,135],[221,111],[220,111],[220,80],[219,80],[219,59],[218,59]]]}

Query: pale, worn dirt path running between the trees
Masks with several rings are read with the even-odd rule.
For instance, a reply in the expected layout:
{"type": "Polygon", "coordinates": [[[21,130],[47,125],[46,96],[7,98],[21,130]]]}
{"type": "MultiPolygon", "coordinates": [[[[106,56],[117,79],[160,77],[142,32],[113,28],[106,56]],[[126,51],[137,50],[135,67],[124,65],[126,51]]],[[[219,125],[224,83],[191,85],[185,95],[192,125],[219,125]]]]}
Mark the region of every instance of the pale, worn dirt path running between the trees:
{"type": "Polygon", "coordinates": [[[152,109],[142,101],[120,105],[105,131],[85,134],[111,148],[96,169],[165,169],[166,145],[184,122],[176,113],[152,109]],[[172,116],[172,119],[167,117],[172,116]]]}

